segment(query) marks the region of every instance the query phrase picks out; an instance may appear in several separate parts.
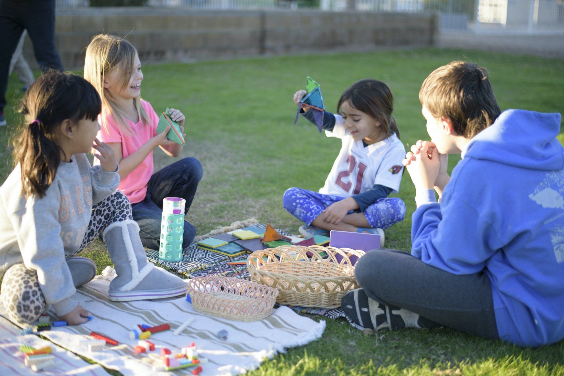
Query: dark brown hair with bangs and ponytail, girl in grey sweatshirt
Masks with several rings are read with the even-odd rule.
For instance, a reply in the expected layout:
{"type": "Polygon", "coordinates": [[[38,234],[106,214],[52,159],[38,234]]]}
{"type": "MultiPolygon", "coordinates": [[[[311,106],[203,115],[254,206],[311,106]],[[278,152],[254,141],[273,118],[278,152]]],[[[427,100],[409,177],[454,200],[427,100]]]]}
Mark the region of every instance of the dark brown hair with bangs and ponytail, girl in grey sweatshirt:
{"type": "Polygon", "coordinates": [[[27,126],[14,144],[14,163],[20,164],[25,198],[32,194],[42,198],[55,179],[64,155],[55,128],[65,119],[73,124],[85,118],[96,120],[101,110],[94,86],[77,75],[52,70],[29,87],[20,105],[27,126]]]}

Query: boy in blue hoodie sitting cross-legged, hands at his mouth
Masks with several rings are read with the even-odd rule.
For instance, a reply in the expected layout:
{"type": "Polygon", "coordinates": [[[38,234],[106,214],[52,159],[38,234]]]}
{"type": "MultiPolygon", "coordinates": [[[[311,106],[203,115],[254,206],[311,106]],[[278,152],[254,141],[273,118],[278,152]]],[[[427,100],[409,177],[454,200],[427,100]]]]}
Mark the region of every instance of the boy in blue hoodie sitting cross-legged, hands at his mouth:
{"type": "Polygon", "coordinates": [[[369,252],[342,299],[371,329],[450,328],[520,346],[564,338],[560,114],[501,113],[485,69],[442,66],[419,93],[431,141],[404,159],[415,184],[411,255],[369,252]],[[448,154],[462,160],[447,174],[448,154]],[[435,193],[439,203],[435,202],[435,193]]]}

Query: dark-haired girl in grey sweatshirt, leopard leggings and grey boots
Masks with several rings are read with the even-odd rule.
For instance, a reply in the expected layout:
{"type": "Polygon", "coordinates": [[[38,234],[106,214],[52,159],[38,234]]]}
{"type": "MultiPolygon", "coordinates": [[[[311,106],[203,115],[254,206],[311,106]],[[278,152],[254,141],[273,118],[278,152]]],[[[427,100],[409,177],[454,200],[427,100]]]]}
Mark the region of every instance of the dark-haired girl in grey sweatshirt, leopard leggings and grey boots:
{"type": "Polygon", "coordinates": [[[95,88],[76,75],[38,78],[21,105],[27,126],[15,145],[14,170],[0,186],[1,296],[14,321],[30,323],[52,305],[60,320],[90,315],[76,287],[96,275],[90,259],[73,257],[102,237],[116,268],[110,300],[186,292],[179,277],[147,261],[112,147],[96,139],[102,108],[95,88]],[[85,153],[94,152],[91,167],[85,153]]]}

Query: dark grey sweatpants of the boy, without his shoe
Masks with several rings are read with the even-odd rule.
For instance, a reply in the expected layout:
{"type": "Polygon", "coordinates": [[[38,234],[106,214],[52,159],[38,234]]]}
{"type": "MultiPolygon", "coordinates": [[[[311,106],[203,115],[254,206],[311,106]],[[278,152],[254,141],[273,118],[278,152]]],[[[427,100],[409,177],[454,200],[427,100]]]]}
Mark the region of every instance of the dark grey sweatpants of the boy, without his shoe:
{"type": "Polygon", "coordinates": [[[395,249],[371,250],[355,266],[368,297],[449,328],[499,338],[490,279],[483,272],[451,274],[395,249]]]}

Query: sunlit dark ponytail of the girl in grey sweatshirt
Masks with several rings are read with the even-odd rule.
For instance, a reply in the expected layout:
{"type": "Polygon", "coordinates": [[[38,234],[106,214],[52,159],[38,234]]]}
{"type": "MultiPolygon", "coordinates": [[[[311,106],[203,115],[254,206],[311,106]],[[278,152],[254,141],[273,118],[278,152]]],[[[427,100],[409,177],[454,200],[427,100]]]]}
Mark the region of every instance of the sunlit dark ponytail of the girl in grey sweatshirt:
{"type": "Polygon", "coordinates": [[[17,141],[15,160],[20,164],[21,193],[26,199],[33,194],[39,198],[45,196],[64,155],[63,149],[41,127],[39,120],[33,120],[17,141]]]}

